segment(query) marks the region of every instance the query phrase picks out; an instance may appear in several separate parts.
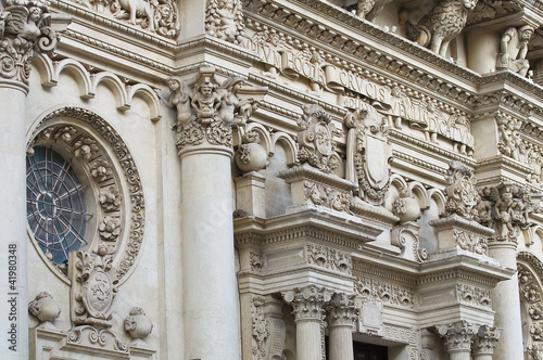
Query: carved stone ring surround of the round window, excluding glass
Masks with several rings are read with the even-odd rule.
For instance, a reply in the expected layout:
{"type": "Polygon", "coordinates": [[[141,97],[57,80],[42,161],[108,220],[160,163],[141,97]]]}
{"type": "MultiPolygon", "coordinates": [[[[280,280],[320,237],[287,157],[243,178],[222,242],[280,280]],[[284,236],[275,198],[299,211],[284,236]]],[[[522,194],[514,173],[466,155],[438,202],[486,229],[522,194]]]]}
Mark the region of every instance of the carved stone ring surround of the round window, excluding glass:
{"type": "MultiPolygon", "coordinates": [[[[31,154],[37,146],[51,149],[73,164],[81,184],[88,187],[85,198],[93,214],[83,235],[87,243],[83,250],[111,256],[121,285],[135,269],[146,215],[141,180],[127,144],[100,115],[65,106],[48,113],[34,127],[27,152],[31,154]]],[[[29,235],[49,268],[67,283],[64,269],[43,254],[31,229],[29,235]]]]}

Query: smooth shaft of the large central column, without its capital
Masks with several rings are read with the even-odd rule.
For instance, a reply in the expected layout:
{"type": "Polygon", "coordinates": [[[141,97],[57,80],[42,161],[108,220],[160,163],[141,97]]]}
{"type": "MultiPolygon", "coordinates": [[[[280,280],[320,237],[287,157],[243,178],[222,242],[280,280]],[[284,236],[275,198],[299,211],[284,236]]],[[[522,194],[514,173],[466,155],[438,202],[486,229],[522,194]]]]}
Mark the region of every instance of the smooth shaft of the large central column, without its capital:
{"type": "Polygon", "coordinates": [[[179,155],[186,359],[239,359],[232,151],[199,145],[179,155]]]}

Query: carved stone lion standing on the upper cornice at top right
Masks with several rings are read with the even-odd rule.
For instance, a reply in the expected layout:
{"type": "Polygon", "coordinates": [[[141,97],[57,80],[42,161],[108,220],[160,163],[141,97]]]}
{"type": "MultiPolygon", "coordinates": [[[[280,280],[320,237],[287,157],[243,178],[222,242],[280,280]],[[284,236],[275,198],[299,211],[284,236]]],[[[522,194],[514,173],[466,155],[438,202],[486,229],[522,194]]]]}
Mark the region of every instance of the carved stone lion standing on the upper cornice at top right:
{"type": "Polygon", "coordinates": [[[477,0],[444,0],[409,29],[408,37],[445,56],[449,43],[462,33],[468,12],[476,5],[477,0]]]}

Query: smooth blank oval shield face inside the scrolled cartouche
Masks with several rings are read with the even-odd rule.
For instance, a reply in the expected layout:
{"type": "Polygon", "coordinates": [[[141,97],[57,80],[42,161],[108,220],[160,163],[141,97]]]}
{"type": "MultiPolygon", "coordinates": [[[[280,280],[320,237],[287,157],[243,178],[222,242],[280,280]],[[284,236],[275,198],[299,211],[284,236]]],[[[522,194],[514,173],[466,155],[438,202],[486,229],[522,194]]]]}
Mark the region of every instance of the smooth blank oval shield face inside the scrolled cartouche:
{"type": "Polygon", "coordinates": [[[366,175],[375,189],[382,189],[389,181],[389,150],[386,139],[366,136],[366,175]]]}

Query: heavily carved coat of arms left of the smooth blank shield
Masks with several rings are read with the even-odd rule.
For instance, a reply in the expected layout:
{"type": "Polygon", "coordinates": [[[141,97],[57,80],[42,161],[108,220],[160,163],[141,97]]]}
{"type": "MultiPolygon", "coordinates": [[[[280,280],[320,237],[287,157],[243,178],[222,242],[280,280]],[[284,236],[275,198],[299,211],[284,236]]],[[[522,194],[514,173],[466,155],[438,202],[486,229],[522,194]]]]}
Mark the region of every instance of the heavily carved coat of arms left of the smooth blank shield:
{"type": "Polygon", "coordinates": [[[333,134],[337,133],[331,118],[323,107],[315,104],[302,106],[303,115],[298,119],[298,159],[301,164],[331,172],[339,166],[336,156],[336,141],[333,134]]]}

